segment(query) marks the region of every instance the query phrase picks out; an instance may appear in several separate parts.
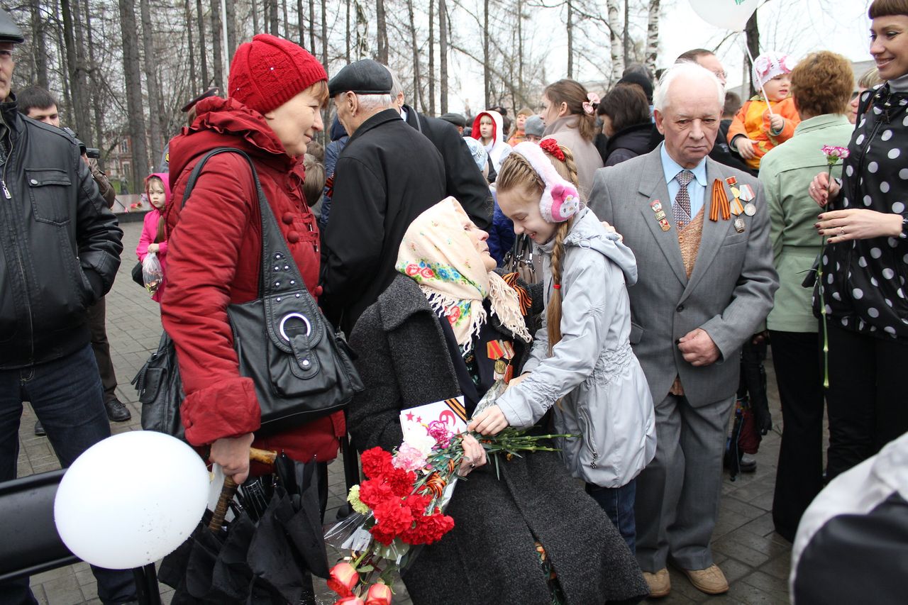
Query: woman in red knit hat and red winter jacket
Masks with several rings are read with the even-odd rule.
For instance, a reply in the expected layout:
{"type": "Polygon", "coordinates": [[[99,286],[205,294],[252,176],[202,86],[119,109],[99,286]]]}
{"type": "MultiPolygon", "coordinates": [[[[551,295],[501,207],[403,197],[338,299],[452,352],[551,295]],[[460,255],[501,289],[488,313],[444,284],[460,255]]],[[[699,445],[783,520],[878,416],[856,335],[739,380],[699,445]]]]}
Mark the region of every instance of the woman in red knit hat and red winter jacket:
{"type": "Polygon", "coordinates": [[[343,414],[253,436],[261,410],[252,379],[240,375],[227,320],[228,305],[258,297],[262,227],[252,171],[241,155],[214,155],[185,207],[183,192],[192,168],[212,149],[232,147],[249,155],[303,281],[318,298],[319,228],[303,198],[297,158],[322,129],[327,79],[300,46],[256,35],[233,57],[228,97],[202,99],[195,120],[170,144],[173,203],[167,212],[162,322],[180,362],[186,439],[211,445],[211,460],[237,483],[249,475],[253,441],[297,461],[333,460],[345,431],[343,414]]]}

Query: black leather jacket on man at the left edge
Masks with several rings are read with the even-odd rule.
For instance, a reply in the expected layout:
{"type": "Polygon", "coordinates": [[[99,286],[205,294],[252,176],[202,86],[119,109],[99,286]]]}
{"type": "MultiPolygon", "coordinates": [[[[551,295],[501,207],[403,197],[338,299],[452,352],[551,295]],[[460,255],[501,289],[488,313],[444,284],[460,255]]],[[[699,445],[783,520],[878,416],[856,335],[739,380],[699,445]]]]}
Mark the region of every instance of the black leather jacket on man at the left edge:
{"type": "Polygon", "coordinates": [[[114,283],[123,231],[74,139],[0,104],[0,369],[49,362],[90,340],[85,309],[114,283]]]}

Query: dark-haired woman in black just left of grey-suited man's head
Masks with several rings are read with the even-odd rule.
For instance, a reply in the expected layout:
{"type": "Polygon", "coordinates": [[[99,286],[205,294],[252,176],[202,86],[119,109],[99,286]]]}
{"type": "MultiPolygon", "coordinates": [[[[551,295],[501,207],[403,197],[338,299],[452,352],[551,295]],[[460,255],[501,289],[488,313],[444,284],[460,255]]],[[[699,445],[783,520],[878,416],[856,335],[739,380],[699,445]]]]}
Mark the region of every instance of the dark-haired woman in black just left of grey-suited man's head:
{"type": "Polygon", "coordinates": [[[602,99],[596,113],[602,120],[602,134],[608,137],[602,158],[605,165],[614,166],[649,153],[653,119],[640,86],[618,84],[602,99]]]}

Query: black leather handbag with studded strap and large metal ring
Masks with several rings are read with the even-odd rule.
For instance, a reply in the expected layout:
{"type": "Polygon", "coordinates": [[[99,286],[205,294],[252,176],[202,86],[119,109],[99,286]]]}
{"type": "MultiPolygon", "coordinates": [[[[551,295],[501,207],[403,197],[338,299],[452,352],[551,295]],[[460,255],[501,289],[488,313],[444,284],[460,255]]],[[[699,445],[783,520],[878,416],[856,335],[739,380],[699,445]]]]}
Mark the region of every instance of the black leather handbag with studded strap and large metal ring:
{"type": "Polygon", "coordinates": [[[233,348],[240,373],[252,379],[262,408],[257,433],[285,431],[343,409],[362,390],[362,381],[343,335],[306,289],[248,155],[222,147],[202,157],[186,184],[183,205],[202,166],[222,153],[242,155],[249,163],[262,218],[259,296],[227,307],[233,348]]]}

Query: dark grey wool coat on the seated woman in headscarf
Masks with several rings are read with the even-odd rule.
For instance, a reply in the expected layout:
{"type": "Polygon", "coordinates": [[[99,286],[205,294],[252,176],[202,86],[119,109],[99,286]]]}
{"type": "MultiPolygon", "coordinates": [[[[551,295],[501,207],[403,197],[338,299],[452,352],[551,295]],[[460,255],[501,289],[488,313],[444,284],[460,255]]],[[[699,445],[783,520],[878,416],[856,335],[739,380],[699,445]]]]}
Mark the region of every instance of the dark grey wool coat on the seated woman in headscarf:
{"type": "MultiPolygon", "coordinates": [[[[401,409],[460,394],[438,319],[409,277],[396,277],[362,314],[350,343],[366,385],[347,411],[360,451],[400,445],[401,409]]],[[[637,560],[556,452],[503,461],[500,481],[492,464],[471,472],[447,513],[454,529],[403,575],[418,605],[549,605],[536,540],[569,604],[636,603],[648,592],[637,560]]]]}

